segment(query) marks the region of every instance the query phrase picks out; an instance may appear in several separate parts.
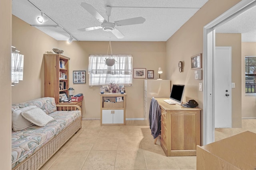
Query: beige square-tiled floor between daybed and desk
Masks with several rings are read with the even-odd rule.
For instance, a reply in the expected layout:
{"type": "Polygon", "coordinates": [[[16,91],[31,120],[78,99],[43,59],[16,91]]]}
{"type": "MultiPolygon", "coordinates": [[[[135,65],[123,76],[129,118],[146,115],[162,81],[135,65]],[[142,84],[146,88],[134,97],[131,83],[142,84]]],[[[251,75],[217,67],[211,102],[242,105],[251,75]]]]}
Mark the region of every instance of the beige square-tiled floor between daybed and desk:
{"type": "MultiPolygon", "coordinates": [[[[241,129],[217,129],[216,140],[241,129]]],[[[165,156],[160,139],[154,145],[148,121],[100,126],[99,120],[83,120],[82,129],[40,170],[196,170],[196,156],[165,156]]]]}

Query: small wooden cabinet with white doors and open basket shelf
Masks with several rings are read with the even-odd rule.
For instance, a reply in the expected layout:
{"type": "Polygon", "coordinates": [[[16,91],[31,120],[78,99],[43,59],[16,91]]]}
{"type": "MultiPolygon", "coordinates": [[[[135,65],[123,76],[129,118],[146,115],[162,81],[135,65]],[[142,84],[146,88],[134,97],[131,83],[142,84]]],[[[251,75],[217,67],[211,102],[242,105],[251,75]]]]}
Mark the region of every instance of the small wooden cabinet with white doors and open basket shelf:
{"type": "Polygon", "coordinates": [[[125,103],[126,93],[100,94],[100,125],[125,125],[125,103]]]}

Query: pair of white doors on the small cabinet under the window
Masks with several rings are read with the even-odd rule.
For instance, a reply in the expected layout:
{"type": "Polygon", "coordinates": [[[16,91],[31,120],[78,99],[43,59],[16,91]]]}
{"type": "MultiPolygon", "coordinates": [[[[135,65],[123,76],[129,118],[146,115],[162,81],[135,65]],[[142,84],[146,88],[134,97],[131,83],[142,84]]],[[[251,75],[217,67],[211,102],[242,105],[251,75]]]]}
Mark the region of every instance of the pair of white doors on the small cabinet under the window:
{"type": "Polygon", "coordinates": [[[124,110],[104,110],[102,109],[102,124],[123,124],[124,123],[124,110]]]}

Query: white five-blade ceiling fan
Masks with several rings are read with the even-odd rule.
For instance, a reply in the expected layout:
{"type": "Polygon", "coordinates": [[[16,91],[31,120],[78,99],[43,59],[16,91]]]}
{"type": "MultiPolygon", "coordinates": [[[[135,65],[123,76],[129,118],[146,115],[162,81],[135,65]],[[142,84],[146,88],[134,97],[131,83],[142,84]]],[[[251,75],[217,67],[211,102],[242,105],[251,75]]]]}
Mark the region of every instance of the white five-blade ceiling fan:
{"type": "Polygon", "coordinates": [[[111,7],[106,6],[106,15],[108,16],[108,21],[103,18],[98,11],[93,8],[90,4],[87,4],[85,2],[81,3],[81,6],[88,11],[92,16],[94,16],[98,21],[102,22],[100,26],[95,27],[88,27],[88,28],[82,28],[78,29],[78,31],[91,31],[94,29],[103,29],[104,31],[111,31],[117,38],[121,39],[124,38],[124,35],[116,28],[116,26],[123,26],[123,25],[134,25],[139,23],[144,23],[146,21],[143,17],[136,17],[136,18],[130,18],[126,20],[119,20],[110,22],[109,17],[111,14],[111,7]]]}

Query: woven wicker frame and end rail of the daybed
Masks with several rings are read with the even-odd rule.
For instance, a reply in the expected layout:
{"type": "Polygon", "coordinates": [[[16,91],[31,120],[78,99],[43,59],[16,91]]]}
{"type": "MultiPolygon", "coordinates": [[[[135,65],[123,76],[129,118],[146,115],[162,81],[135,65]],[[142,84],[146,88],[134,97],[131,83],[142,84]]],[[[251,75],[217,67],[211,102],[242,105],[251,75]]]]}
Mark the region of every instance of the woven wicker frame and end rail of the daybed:
{"type": "MultiPolygon", "coordinates": [[[[75,110],[82,112],[77,105],[56,105],[57,110],[75,110]]],[[[12,170],[38,170],[49,160],[79,129],[82,128],[82,114],[70,125],[62,129],[56,137],[43,145],[31,156],[20,162],[12,170]]]]}

